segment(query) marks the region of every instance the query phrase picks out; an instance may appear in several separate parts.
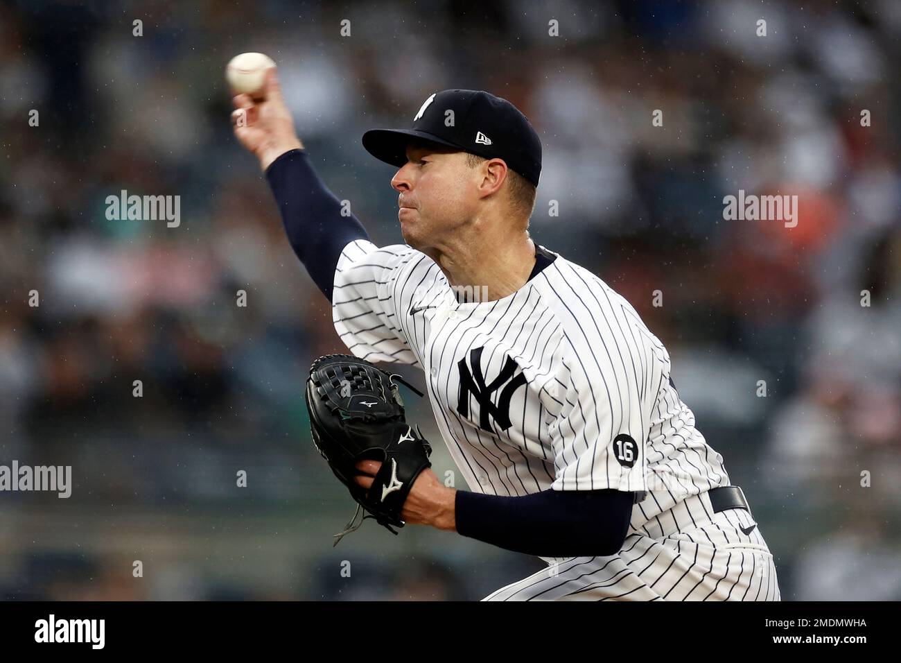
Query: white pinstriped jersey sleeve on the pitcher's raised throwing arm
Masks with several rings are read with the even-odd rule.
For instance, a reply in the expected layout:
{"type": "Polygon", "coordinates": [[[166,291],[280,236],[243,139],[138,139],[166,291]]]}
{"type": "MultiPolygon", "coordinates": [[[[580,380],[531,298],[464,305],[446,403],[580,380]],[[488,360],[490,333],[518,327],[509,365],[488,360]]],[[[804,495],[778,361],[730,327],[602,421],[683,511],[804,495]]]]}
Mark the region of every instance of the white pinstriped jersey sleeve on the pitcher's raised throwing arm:
{"type": "Polygon", "coordinates": [[[419,365],[405,335],[396,296],[398,278],[414,249],[350,242],[335,267],[332,322],[348,350],[370,362],[419,365]]]}

